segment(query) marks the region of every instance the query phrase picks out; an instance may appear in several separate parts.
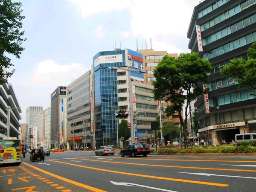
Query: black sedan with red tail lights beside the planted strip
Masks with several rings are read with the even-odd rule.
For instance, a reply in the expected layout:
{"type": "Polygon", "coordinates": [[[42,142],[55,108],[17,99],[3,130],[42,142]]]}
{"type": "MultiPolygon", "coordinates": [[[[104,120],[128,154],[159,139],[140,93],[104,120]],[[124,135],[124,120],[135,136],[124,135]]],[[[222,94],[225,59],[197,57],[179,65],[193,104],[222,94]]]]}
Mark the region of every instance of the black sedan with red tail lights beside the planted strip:
{"type": "Polygon", "coordinates": [[[131,155],[132,157],[135,157],[136,155],[143,155],[146,157],[149,153],[150,148],[145,147],[142,144],[130,144],[120,151],[121,157],[125,157],[125,155],[131,155]]]}

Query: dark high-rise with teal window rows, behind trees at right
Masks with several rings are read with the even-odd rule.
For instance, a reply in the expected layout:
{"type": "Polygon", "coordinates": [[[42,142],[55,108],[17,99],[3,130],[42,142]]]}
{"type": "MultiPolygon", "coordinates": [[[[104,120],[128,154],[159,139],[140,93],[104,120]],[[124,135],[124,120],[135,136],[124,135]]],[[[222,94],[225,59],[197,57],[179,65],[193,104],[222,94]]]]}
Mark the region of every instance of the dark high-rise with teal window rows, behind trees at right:
{"type": "Polygon", "coordinates": [[[212,65],[204,96],[195,102],[199,133],[207,145],[230,142],[235,134],[256,132],[245,120],[256,122],[253,89],[238,87],[236,79],[222,76],[221,69],[233,58],[247,59],[247,49],[256,41],[256,0],[205,0],[195,6],[187,32],[189,49],[212,65]],[[198,46],[199,45],[199,46],[198,46]]]}

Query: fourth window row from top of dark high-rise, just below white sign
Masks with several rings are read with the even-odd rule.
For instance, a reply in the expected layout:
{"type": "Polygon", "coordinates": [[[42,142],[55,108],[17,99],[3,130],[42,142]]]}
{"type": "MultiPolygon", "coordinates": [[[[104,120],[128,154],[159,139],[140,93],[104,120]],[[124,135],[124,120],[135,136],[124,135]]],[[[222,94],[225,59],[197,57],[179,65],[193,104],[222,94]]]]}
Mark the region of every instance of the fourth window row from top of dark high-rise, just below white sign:
{"type": "Polygon", "coordinates": [[[212,49],[208,52],[205,52],[203,57],[204,59],[211,59],[211,58],[217,57],[218,55],[222,55],[226,52],[230,52],[233,49],[237,49],[244,45],[250,44],[253,41],[256,41],[256,32],[250,33],[249,35],[236,39],[235,41],[231,41],[230,43],[221,45],[216,49],[212,49]]]}

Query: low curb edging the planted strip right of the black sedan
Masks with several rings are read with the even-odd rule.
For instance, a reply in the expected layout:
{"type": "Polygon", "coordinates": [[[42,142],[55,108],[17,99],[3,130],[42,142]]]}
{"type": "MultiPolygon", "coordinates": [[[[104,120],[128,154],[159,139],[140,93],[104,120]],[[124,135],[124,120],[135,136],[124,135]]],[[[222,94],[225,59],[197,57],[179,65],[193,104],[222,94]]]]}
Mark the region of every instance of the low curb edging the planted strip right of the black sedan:
{"type": "Polygon", "coordinates": [[[256,156],[256,153],[150,153],[152,155],[176,155],[176,156],[256,156]]]}

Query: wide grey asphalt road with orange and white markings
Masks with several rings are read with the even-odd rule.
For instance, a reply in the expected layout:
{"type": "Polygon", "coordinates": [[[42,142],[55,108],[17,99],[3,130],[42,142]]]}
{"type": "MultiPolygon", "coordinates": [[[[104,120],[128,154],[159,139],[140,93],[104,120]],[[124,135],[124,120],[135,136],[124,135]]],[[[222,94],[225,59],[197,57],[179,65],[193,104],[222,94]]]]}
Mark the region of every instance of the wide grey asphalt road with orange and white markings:
{"type": "Polygon", "coordinates": [[[0,191],[216,192],[256,189],[256,157],[95,156],[93,151],[51,154],[45,161],[0,166],[0,191]]]}

